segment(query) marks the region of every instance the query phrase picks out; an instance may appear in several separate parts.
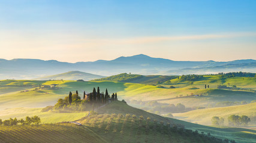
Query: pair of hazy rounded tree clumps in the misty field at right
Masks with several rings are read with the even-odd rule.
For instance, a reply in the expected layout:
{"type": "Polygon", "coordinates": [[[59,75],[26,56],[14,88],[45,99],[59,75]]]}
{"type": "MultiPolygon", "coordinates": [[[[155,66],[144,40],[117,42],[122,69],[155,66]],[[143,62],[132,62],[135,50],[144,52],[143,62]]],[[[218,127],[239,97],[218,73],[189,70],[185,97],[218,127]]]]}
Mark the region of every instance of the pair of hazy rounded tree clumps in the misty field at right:
{"type": "MultiPolygon", "coordinates": [[[[231,115],[228,117],[229,126],[247,126],[249,122],[251,122],[251,119],[245,115],[231,115]]],[[[224,126],[224,118],[219,118],[218,116],[212,117],[212,125],[224,126]]]]}

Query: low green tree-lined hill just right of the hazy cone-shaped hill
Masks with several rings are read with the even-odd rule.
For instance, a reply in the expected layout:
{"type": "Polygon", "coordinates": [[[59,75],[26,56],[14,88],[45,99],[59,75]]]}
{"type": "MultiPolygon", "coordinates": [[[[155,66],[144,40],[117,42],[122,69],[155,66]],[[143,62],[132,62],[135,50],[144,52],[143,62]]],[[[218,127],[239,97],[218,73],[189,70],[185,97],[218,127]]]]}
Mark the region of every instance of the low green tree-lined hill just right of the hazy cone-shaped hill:
{"type": "Polygon", "coordinates": [[[159,84],[167,80],[174,79],[176,76],[143,76],[140,74],[121,73],[115,76],[104,77],[101,79],[94,79],[93,81],[113,81],[113,82],[129,82],[142,84],[159,84]]]}

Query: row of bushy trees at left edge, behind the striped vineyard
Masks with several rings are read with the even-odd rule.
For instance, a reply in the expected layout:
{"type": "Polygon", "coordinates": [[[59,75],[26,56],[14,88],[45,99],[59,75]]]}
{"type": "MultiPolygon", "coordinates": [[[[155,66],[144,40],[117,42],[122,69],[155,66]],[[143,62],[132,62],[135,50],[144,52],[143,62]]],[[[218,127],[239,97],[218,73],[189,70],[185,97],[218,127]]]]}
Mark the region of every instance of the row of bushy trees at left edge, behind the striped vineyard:
{"type": "Polygon", "coordinates": [[[0,119],[0,126],[4,125],[4,126],[14,126],[14,125],[31,125],[32,123],[34,124],[39,124],[41,123],[41,119],[38,116],[34,116],[34,117],[29,117],[27,116],[25,118],[25,120],[20,119],[17,120],[17,118],[10,118],[9,120],[4,120],[2,121],[2,119],[0,119]]]}

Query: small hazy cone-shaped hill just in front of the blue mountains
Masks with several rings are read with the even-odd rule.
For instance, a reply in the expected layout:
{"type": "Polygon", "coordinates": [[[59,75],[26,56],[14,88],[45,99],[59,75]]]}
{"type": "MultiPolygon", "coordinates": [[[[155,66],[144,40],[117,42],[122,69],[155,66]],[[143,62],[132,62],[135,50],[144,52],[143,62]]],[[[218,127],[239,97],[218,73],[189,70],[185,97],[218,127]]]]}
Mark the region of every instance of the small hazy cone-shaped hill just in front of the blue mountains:
{"type": "Polygon", "coordinates": [[[55,74],[52,76],[46,76],[46,77],[38,77],[35,80],[93,80],[93,79],[99,79],[103,78],[104,76],[100,76],[97,74],[91,74],[91,73],[85,73],[82,71],[68,71],[67,73],[61,73],[61,74],[55,74]]]}

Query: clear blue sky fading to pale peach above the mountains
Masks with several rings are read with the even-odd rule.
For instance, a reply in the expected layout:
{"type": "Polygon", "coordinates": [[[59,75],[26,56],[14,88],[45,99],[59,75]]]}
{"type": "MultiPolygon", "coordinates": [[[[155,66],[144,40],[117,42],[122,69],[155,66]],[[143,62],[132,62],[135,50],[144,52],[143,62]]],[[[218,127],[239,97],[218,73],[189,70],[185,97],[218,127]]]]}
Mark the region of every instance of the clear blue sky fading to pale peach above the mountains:
{"type": "Polygon", "coordinates": [[[0,0],[0,58],[256,59],[256,1],[0,0]]]}

